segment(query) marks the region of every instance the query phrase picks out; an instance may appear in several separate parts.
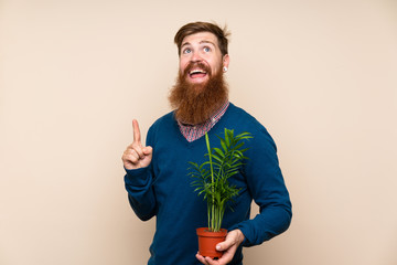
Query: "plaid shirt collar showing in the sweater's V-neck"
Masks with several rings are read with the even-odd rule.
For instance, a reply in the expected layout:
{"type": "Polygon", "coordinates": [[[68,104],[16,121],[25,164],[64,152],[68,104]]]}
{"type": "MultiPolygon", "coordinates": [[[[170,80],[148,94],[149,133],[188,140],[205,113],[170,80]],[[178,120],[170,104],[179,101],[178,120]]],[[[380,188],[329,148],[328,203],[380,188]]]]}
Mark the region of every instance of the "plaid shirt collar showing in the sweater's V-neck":
{"type": "Polygon", "coordinates": [[[187,141],[194,141],[204,136],[222,118],[228,106],[229,102],[227,100],[214,115],[212,115],[205,123],[200,125],[184,125],[178,120],[178,125],[184,138],[186,138],[187,141]]]}

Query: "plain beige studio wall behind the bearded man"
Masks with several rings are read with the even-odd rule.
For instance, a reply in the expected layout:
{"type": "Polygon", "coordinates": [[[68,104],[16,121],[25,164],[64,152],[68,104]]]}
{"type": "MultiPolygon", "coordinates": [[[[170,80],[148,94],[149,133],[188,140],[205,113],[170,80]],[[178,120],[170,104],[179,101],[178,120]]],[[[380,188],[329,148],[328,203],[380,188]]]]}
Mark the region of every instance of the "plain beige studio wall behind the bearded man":
{"type": "Polygon", "coordinates": [[[240,2],[0,1],[1,265],[146,263],[154,221],[120,157],[132,118],[146,134],[170,110],[173,35],[196,20],[232,30],[232,102],[273,136],[293,202],[245,264],[397,264],[397,2],[240,2]]]}

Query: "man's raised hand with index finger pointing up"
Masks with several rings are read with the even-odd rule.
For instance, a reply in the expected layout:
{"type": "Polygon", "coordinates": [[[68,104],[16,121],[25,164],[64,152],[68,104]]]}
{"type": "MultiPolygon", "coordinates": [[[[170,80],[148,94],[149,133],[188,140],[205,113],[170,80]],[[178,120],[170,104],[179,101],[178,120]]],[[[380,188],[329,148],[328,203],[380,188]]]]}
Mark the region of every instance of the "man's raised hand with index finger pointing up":
{"type": "Polygon", "coordinates": [[[142,146],[139,125],[136,119],[132,120],[133,141],[122,153],[122,163],[126,169],[146,168],[150,165],[153,148],[142,146]]]}

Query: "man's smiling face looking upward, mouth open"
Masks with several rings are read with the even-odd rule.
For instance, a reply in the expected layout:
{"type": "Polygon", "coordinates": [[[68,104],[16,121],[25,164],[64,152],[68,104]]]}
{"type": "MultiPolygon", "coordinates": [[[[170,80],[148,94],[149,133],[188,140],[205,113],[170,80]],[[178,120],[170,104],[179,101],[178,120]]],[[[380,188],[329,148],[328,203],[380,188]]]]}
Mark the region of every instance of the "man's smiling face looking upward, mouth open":
{"type": "Polygon", "coordinates": [[[186,82],[205,84],[211,76],[228,66],[228,55],[222,56],[216,36],[211,32],[198,32],[183,39],[180,54],[180,72],[186,82]]]}

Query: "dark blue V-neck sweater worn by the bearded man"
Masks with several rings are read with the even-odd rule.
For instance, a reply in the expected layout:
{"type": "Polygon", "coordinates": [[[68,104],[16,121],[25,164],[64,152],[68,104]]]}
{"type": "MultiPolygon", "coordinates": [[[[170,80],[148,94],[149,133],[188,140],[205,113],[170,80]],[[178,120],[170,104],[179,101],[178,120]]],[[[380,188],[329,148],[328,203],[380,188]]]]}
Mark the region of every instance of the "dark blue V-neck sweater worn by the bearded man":
{"type": "MultiPolygon", "coordinates": [[[[246,141],[249,158],[239,174],[229,180],[242,188],[233,210],[226,209],[223,227],[239,229],[245,235],[242,246],[261,244],[286,231],[291,221],[291,202],[279,168],[276,145],[253,116],[230,104],[221,120],[208,131],[212,147],[219,147],[216,137],[224,128],[253,134],[246,141]],[[249,220],[255,201],[260,213],[249,220]]],[[[205,137],[189,142],[181,134],[173,113],[158,119],[149,129],[147,146],[153,148],[147,168],[127,170],[125,177],[129,202],[143,221],[155,215],[155,234],[148,264],[201,264],[196,258],[196,227],[207,226],[206,202],[197,197],[187,177],[189,161],[204,161],[205,137]]],[[[230,264],[243,264],[242,246],[230,264]]]]}

